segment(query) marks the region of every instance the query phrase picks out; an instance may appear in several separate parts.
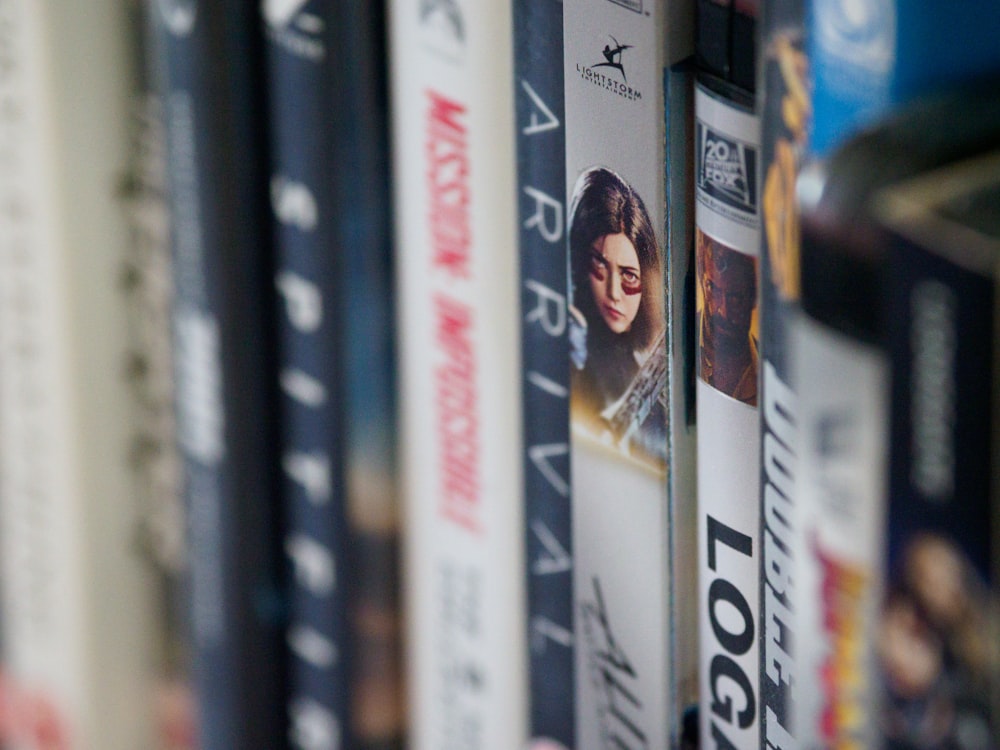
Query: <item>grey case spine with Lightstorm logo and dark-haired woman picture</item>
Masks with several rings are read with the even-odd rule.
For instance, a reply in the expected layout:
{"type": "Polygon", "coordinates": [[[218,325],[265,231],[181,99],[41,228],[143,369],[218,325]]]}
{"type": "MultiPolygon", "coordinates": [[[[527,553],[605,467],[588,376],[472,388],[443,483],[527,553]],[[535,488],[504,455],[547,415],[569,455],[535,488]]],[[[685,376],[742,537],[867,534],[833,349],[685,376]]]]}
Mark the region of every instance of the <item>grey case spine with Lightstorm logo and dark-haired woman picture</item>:
{"type": "Polygon", "coordinates": [[[675,506],[694,498],[680,496],[692,430],[673,421],[685,392],[671,361],[690,257],[673,240],[690,204],[667,205],[690,158],[694,10],[580,0],[563,13],[576,747],[670,747],[696,679],[674,663],[673,599],[693,570],[673,559],[675,506]]]}

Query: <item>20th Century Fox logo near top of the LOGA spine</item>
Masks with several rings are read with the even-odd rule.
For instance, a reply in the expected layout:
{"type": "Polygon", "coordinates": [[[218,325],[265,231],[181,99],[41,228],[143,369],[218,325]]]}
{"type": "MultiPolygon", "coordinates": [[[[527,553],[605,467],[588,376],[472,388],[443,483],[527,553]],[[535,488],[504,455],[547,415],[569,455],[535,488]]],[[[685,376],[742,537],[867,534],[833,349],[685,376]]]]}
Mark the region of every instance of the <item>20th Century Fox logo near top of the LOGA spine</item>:
{"type": "Polygon", "coordinates": [[[757,213],[757,149],[698,122],[698,189],[750,214],[757,213]]]}

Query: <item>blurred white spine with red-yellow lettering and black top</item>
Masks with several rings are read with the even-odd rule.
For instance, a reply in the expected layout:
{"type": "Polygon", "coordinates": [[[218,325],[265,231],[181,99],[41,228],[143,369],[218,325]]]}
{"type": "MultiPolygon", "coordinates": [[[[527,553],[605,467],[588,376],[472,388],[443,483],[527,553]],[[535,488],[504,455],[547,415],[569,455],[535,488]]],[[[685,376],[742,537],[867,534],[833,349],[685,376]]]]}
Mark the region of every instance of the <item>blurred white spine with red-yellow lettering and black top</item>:
{"type": "MultiPolygon", "coordinates": [[[[803,179],[810,179],[809,171],[803,179]]],[[[800,437],[792,545],[800,747],[877,747],[867,706],[888,472],[890,369],[878,339],[879,259],[802,223],[801,313],[790,326],[800,437]],[[835,288],[852,285],[853,295],[835,288]]]]}

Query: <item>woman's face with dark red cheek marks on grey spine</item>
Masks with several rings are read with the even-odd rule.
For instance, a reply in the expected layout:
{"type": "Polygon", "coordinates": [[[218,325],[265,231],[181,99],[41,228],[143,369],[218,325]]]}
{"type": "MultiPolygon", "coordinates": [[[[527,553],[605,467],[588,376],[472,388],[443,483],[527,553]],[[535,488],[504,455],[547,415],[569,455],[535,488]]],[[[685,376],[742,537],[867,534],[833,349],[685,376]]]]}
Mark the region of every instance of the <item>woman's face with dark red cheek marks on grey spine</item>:
{"type": "Polygon", "coordinates": [[[639,255],[624,234],[598,237],[590,247],[590,290],[605,324],[625,333],[639,312],[642,278],[639,255]]]}

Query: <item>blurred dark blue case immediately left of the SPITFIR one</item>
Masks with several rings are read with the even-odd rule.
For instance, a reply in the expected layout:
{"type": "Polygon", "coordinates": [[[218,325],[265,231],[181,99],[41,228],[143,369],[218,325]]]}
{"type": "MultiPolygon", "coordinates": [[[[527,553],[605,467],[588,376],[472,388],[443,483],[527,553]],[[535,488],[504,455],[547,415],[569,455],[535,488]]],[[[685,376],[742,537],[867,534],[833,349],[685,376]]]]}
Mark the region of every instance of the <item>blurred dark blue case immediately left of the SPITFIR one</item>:
{"type": "Polygon", "coordinates": [[[242,2],[150,2],[164,106],[185,599],[204,750],[285,746],[262,49],[242,2]]]}

